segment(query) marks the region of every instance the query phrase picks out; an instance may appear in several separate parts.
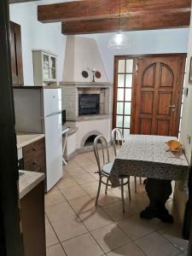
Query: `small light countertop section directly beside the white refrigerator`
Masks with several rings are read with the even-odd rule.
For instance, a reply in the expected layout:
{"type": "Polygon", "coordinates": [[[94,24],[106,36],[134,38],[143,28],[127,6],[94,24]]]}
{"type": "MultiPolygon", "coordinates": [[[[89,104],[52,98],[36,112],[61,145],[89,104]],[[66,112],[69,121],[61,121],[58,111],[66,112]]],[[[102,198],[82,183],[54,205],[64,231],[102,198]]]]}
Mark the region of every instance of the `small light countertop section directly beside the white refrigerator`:
{"type": "Polygon", "coordinates": [[[43,137],[44,134],[38,133],[17,133],[17,149],[23,148],[30,143],[34,143],[43,137]]]}

